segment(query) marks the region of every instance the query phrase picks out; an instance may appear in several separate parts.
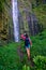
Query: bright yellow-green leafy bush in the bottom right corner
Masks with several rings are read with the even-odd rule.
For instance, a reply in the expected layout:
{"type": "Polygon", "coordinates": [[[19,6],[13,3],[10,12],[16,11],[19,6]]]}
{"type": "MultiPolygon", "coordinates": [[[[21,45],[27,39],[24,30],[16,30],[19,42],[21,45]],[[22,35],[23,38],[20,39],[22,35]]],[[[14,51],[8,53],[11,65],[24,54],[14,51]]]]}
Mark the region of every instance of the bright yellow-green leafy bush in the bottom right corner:
{"type": "Polygon", "coordinates": [[[36,56],[33,58],[35,64],[35,70],[46,70],[46,57],[44,56],[36,56]]]}

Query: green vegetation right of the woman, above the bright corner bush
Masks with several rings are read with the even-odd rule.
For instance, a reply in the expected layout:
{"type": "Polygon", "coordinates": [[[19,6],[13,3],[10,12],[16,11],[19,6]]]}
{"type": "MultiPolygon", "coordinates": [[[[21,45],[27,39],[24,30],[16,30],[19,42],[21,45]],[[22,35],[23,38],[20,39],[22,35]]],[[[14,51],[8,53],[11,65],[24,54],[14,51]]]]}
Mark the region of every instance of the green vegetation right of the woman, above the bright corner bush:
{"type": "Polygon", "coordinates": [[[31,56],[34,57],[36,55],[46,56],[46,30],[42,33],[39,33],[36,37],[32,37],[32,47],[31,47],[31,56]]]}

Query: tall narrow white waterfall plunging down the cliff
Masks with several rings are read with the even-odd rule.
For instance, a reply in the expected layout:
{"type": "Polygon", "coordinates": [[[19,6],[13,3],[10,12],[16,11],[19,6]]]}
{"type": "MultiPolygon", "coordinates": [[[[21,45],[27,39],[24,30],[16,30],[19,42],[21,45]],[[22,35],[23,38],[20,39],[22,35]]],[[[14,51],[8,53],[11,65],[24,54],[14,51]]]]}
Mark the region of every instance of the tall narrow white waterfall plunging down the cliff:
{"type": "Polygon", "coordinates": [[[12,11],[13,11],[13,25],[14,25],[14,39],[15,39],[15,42],[18,42],[19,41],[19,24],[18,24],[17,0],[12,0],[12,11]]]}

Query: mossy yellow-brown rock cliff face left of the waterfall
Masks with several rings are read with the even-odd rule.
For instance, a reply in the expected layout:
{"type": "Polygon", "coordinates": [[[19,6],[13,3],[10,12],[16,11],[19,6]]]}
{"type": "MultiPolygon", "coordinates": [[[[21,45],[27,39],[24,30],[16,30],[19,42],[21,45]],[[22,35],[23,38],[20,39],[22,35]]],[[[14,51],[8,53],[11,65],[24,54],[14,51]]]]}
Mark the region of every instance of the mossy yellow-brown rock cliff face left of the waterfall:
{"type": "Polygon", "coordinates": [[[0,10],[0,40],[9,42],[13,39],[12,4],[11,0],[0,2],[2,6],[2,12],[0,10]]]}

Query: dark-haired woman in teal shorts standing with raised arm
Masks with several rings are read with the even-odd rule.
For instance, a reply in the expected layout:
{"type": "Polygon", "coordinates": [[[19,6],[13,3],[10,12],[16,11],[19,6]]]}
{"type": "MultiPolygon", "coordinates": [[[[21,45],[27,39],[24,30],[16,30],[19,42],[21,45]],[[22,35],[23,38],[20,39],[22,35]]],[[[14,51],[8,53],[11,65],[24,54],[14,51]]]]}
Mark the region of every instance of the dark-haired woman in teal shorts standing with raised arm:
{"type": "Polygon", "coordinates": [[[28,59],[30,59],[30,46],[32,46],[32,42],[27,33],[21,34],[21,39],[25,41],[25,47],[27,51],[28,59]]]}

